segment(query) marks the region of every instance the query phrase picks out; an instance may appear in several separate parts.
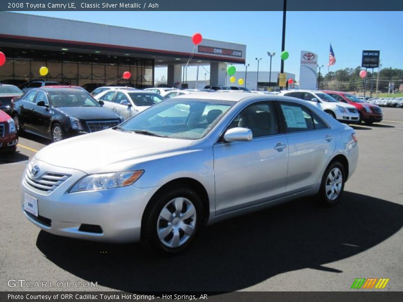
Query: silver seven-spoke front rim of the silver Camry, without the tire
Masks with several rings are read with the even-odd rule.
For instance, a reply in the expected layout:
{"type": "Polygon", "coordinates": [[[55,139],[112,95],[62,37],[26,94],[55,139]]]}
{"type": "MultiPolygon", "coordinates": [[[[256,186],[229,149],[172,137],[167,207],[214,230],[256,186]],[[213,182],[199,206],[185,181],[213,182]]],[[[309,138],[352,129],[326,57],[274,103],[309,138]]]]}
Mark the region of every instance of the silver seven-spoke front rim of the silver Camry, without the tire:
{"type": "Polygon", "coordinates": [[[191,238],[195,227],[196,208],[189,199],[177,197],[162,208],[157,220],[157,235],[166,247],[177,248],[191,238]]]}

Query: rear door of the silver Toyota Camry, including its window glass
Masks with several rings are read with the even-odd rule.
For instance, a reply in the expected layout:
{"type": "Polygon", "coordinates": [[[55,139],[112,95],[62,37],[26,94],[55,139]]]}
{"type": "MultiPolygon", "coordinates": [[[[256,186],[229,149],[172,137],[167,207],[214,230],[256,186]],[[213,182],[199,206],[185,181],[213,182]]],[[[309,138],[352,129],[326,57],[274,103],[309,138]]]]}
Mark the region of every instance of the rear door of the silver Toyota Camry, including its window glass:
{"type": "Polygon", "coordinates": [[[321,180],[337,138],[326,122],[302,104],[281,101],[277,109],[289,146],[286,191],[310,189],[321,180]]]}

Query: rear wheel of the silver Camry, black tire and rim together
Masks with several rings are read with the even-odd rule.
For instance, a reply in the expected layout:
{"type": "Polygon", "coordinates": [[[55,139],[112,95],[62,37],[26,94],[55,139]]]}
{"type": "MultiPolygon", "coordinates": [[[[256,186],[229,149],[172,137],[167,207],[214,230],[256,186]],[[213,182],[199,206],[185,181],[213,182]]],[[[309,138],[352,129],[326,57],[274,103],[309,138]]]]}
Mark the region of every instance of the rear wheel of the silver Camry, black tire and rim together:
{"type": "Polygon", "coordinates": [[[323,174],[317,195],[320,205],[330,207],[342,198],[346,182],[345,175],[344,167],[340,162],[330,163],[323,174]]]}

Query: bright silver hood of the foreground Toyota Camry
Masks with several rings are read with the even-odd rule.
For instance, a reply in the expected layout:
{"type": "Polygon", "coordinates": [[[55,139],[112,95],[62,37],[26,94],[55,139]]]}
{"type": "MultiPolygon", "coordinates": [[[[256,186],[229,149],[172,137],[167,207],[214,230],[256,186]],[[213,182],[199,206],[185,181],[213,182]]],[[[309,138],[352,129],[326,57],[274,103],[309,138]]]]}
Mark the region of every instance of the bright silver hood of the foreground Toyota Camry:
{"type": "Polygon", "coordinates": [[[88,174],[117,172],[186,150],[192,140],[157,137],[108,129],[52,143],[37,160],[88,174]]]}

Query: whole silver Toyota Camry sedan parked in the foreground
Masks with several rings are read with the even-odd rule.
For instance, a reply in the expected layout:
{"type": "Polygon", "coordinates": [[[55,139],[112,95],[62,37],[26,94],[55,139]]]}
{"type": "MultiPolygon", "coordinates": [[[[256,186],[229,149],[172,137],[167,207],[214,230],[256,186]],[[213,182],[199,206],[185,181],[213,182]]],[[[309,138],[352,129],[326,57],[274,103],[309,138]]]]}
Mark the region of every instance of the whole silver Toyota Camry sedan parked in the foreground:
{"type": "Polygon", "coordinates": [[[55,235],[177,253],[204,224],[307,195],[338,202],[357,159],[354,130],[304,101],[184,95],[40,150],[21,206],[55,235]]]}

